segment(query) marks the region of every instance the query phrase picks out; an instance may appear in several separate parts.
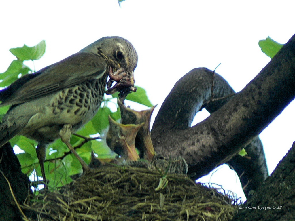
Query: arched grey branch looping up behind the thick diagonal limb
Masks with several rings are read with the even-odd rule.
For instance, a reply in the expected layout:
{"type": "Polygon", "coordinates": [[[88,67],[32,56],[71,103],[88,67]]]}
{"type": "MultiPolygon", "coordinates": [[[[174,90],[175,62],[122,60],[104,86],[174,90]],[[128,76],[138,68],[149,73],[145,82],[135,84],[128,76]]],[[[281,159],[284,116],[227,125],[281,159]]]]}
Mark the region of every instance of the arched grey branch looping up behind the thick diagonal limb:
{"type": "MultiPolygon", "coordinates": [[[[196,113],[211,99],[213,72],[207,68],[195,68],[184,75],[166,97],[153,124],[152,133],[160,130],[187,129],[191,126],[196,113]]],[[[215,73],[213,93],[214,98],[234,94],[223,77],[215,73]]],[[[212,102],[208,105],[209,112],[214,112],[230,97],[212,102]],[[216,108],[218,106],[218,108],[216,108]]],[[[154,135],[152,134],[154,137],[154,135]]]]}

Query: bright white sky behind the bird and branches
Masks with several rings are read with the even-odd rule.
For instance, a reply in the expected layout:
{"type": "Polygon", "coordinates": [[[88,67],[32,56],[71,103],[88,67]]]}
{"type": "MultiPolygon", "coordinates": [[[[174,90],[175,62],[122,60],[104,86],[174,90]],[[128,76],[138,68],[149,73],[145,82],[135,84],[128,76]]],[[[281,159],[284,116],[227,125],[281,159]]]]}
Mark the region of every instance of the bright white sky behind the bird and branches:
{"type": "MultiPolygon", "coordinates": [[[[9,52],[12,47],[44,39],[45,55],[35,62],[39,70],[101,37],[118,35],[137,50],[136,85],[158,104],[155,118],[176,81],[195,67],[214,70],[221,63],[216,72],[234,90],[242,90],[270,61],[258,41],[270,36],[286,43],[295,33],[294,6],[286,0],[126,0],[121,8],[116,0],[2,1],[0,73],[15,58],[9,52]]],[[[295,140],[294,110],[292,102],[260,134],[270,172],[295,140]]],[[[224,184],[215,180],[218,176],[224,180],[224,173],[218,172],[210,181],[224,184]]]]}

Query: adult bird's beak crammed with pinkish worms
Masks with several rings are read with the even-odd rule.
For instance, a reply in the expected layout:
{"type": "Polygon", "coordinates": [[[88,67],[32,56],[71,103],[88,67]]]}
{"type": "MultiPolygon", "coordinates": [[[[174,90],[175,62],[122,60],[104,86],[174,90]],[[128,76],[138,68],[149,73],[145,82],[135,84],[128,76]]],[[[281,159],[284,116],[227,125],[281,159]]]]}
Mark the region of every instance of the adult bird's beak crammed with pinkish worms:
{"type": "Polygon", "coordinates": [[[136,87],[134,87],[134,75],[133,71],[126,72],[123,68],[119,68],[118,70],[114,71],[110,68],[109,71],[109,81],[107,82],[107,91],[106,94],[113,94],[116,91],[136,91],[136,87]],[[113,82],[116,82],[114,86],[112,86],[113,82]]]}

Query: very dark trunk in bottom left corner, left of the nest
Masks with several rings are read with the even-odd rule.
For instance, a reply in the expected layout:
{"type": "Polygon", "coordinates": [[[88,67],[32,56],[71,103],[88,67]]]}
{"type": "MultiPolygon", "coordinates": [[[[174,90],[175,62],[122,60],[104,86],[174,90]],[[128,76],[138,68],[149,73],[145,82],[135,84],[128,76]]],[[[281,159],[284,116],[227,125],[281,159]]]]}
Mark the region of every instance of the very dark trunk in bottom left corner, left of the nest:
{"type": "MultiPolygon", "coordinates": [[[[0,170],[8,179],[17,202],[22,204],[30,191],[30,180],[27,175],[22,173],[19,160],[10,143],[6,143],[0,148],[0,159],[0,170]]],[[[22,220],[3,174],[0,173],[0,220],[22,220]]]]}

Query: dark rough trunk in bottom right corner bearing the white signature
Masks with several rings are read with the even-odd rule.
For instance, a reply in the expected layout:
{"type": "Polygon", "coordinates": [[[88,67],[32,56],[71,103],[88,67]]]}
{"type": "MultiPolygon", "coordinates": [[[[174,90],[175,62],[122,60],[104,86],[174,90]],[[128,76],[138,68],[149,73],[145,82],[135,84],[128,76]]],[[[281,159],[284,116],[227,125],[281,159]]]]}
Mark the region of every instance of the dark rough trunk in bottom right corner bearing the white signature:
{"type": "MultiPolygon", "coordinates": [[[[274,150],[275,151],[275,150],[274,150]]],[[[295,142],[265,184],[240,207],[233,220],[294,220],[295,211],[295,142]]]]}

